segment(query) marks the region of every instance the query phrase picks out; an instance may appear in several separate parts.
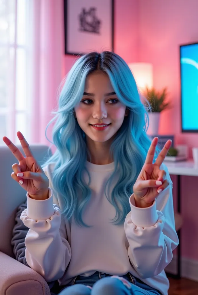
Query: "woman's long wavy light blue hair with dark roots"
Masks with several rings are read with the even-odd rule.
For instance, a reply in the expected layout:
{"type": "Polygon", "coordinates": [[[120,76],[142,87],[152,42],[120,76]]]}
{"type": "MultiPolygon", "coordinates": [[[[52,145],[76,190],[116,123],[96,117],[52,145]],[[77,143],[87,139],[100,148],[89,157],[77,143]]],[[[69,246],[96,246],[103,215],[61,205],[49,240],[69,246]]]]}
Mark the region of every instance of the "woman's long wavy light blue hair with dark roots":
{"type": "MultiPolygon", "coordinates": [[[[51,143],[57,149],[42,168],[55,163],[52,185],[63,201],[62,215],[68,221],[71,221],[74,215],[75,222],[81,227],[90,227],[82,219],[91,198],[90,174],[85,166],[90,154],[86,147],[85,133],[74,117],[74,108],[82,99],[87,75],[96,70],[108,75],[118,99],[129,109],[129,114],[124,118],[110,147],[115,170],[105,186],[105,195],[116,209],[116,216],[112,219],[115,225],[123,224],[130,212],[129,197],[133,193],[133,185],[151,144],[150,138],[146,135],[149,122],[148,108],[146,109],[141,102],[136,82],[127,63],[119,55],[109,51],[91,52],[78,58],[64,79],[64,85],[62,83],[58,110],[52,112],[55,116],[45,130],[47,138],[47,128],[56,120],[51,143]],[[119,179],[110,196],[110,186],[117,172],[119,179]],[[88,173],[88,184],[83,180],[83,173],[88,173]],[[122,209],[118,207],[119,204],[122,209]]],[[[156,156],[158,153],[159,147],[156,148],[156,156]]]]}

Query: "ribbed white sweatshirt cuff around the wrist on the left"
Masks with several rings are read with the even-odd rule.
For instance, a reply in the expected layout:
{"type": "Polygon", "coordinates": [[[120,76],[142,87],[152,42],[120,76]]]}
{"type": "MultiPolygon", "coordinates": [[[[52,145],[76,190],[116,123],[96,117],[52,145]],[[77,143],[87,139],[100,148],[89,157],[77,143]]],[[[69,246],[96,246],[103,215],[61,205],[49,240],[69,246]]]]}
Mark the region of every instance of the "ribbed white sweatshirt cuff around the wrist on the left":
{"type": "Polygon", "coordinates": [[[55,210],[53,207],[53,191],[49,187],[49,197],[46,200],[34,200],[27,192],[27,216],[34,220],[46,220],[52,217],[55,210]]]}

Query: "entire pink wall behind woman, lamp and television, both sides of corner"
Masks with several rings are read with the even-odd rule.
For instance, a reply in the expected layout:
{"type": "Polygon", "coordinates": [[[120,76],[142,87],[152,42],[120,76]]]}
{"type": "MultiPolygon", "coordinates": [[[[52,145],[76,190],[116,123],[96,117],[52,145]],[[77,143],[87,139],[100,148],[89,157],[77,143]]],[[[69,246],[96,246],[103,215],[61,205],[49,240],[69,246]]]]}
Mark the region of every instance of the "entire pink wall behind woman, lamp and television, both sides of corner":
{"type": "MultiPolygon", "coordinates": [[[[161,115],[160,134],[174,134],[176,144],[198,146],[198,134],[180,131],[179,44],[198,41],[197,0],[115,0],[115,52],[127,63],[150,62],[154,65],[154,86],[168,86],[174,105],[161,115]]],[[[62,77],[75,57],[62,58],[62,77]]],[[[174,206],[176,208],[176,178],[174,206]]],[[[198,259],[197,178],[182,177],[182,256],[198,259]]]]}

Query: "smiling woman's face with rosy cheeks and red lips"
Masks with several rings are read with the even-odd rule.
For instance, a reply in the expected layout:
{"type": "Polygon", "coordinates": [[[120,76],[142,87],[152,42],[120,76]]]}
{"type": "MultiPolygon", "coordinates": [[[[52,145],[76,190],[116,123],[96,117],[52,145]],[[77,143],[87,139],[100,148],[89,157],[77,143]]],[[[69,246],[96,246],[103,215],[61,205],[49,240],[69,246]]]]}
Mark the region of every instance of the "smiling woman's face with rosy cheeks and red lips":
{"type": "Polygon", "coordinates": [[[75,107],[75,117],[80,128],[93,141],[105,142],[113,137],[128,115],[126,106],[118,100],[108,75],[95,71],[87,76],[84,95],[75,107]],[[108,124],[97,130],[92,125],[108,124]]]}

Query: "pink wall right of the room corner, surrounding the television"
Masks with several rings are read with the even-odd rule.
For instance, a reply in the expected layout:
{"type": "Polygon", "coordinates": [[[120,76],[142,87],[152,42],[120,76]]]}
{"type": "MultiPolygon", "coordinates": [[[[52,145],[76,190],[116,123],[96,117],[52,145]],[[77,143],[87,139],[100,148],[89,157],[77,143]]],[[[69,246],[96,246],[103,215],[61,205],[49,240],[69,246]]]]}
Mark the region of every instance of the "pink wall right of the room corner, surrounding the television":
{"type": "MultiPolygon", "coordinates": [[[[198,134],[181,133],[180,129],[180,72],[179,45],[197,42],[197,0],[138,2],[138,61],[150,62],[154,66],[154,86],[168,86],[174,108],[161,115],[160,134],[174,134],[176,144],[198,146],[198,134]]],[[[198,114],[198,112],[197,112],[198,114]]],[[[198,198],[197,177],[182,176],[182,256],[198,260],[198,198]]],[[[173,176],[174,201],[176,178],[173,176]]],[[[176,207],[175,207],[176,208],[176,207]]]]}

